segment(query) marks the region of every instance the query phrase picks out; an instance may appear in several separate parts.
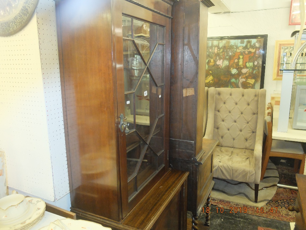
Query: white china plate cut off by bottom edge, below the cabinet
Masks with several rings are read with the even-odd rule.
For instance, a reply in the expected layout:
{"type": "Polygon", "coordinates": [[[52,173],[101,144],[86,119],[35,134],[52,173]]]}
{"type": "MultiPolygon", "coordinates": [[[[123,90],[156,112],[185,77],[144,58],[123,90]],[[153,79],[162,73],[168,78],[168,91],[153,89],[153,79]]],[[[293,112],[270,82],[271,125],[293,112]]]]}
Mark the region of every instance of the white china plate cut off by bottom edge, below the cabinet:
{"type": "Polygon", "coordinates": [[[101,224],[97,224],[87,220],[73,220],[70,218],[55,220],[48,226],[40,228],[39,230],[111,230],[111,228],[103,227],[101,224]]]}

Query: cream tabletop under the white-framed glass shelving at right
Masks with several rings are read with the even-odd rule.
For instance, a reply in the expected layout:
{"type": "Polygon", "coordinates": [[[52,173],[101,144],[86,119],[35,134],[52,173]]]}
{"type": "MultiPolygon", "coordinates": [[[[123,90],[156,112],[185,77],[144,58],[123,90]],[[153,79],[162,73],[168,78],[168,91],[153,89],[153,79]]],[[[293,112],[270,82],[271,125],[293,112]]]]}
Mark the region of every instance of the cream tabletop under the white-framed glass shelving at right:
{"type": "Polygon", "coordinates": [[[279,115],[279,105],[274,105],[273,106],[272,139],[290,140],[290,141],[297,141],[297,142],[305,143],[306,142],[306,130],[293,129],[291,125],[293,118],[289,118],[288,132],[277,132],[278,115],[279,115]]]}

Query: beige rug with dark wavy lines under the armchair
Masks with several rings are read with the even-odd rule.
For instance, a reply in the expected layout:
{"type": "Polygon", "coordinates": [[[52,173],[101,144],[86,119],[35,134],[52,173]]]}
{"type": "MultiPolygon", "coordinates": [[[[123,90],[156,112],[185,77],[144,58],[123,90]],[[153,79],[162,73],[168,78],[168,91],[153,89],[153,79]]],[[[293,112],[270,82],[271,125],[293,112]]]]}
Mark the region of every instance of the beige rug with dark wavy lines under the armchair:
{"type": "Polygon", "coordinates": [[[279,181],[275,165],[269,161],[265,176],[259,183],[258,202],[254,202],[254,184],[214,178],[211,197],[244,205],[263,207],[276,192],[279,181]]]}

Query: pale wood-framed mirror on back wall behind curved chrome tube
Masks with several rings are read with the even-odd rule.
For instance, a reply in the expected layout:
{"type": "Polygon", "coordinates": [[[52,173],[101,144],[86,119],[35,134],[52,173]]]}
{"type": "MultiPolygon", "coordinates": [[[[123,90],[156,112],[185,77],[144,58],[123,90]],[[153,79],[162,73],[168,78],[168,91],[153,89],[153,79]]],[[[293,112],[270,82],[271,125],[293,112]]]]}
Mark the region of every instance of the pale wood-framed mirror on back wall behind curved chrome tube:
{"type": "MultiPolygon", "coordinates": [[[[304,41],[302,41],[304,43],[304,41]]],[[[282,80],[283,71],[280,69],[290,69],[292,54],[294,48],[294,40],[276,40],[275,41],[275,49],[274,49],[274,63],[273,63],[273,80],[282,80]]],[[[306,55],[306,49],[304,49],[300,56],[306,55]]],[[[305,58],[302,58],[305,60],[305,58]]],[[[305,61],[303,61],[305,62],[305,61]]],[[[306,63],[300,63],[299,59],[297,60],[297,64],[300,69],[306,68],[306,63]]],[[[305,71],[296,71],[298,76],[306,76],[305,71]]]]}

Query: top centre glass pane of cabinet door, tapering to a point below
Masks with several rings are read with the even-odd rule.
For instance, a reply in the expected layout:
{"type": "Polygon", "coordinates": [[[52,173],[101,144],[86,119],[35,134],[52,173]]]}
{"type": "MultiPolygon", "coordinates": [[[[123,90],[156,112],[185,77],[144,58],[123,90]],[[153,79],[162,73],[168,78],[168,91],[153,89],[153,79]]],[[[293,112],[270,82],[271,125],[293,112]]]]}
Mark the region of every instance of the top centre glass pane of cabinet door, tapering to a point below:
{"type": "Polygon", "coordinates": [[[133,24],[134,41],[145,62],[148,62],[151,53],[157,44],[157,26],[136,19],[133,20],[133,24]]]}

